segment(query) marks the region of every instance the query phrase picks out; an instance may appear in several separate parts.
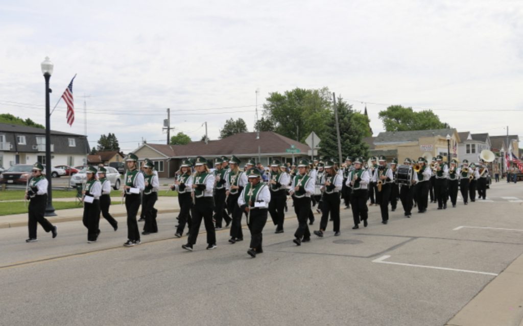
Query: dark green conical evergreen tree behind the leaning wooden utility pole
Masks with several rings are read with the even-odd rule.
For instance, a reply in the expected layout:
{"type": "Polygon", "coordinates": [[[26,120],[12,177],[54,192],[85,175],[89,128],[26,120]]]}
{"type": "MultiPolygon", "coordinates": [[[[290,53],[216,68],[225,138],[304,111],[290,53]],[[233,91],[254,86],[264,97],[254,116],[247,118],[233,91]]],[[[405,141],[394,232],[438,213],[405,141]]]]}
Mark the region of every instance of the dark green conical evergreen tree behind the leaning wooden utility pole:
{"type": "MultiPolygon", "coordinates": [[[[363,142],[363,137],[370,133],[368,130],[368,118],[365,115],[355,112],[352,106],[347,104],[343,98],[336,99],[338,109],[339,135],[342,145],[342,159],[346,155],[367,157],[369,154],[369,145],[363,142]],[[361,120],[361,117],[365,120],[361,120]],[[363,123],[362,123],[363,122],[363,123]],[[345,155],[345,156],[344,156],[345,155]]],[[[336,132],[336,119],[331,114],[327,122],[325,132],[320,136],[322,139],[319,154],[328,158],[338,157],[338,140],[336,132]]]]}

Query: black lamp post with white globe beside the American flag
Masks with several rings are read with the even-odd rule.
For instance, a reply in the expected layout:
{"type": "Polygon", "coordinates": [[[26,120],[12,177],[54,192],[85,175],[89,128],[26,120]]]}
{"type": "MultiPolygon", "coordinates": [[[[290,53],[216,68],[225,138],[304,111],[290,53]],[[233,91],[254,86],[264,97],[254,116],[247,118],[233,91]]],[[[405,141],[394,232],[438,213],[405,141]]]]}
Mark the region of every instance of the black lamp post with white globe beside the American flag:
{"type": "Polygon", "coordinates": [[[46,79],[46,179],[48,181],[47,186],[47,207],[46,216],[56,216],[54,213],[54,207],[52,204],[52,185],[51,185],[51,113],[49,104],[49,94],[51,89],[49,88],[49,79],[53,74],[53,63],[46,56],[46,60],[41,63],[43,78],[46,79]]]}

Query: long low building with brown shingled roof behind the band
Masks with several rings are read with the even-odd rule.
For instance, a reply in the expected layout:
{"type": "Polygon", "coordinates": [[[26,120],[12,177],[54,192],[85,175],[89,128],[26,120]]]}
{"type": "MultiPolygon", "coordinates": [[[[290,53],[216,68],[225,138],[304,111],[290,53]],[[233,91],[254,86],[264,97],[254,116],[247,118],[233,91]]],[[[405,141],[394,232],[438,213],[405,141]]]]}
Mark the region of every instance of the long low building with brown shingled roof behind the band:
{"type": "Polygon", "coordinates": [[[132,153],[139,160],[149,158],[154,162],[160,178],[174,177],[179,169],[181,160],[187,157],[203,156],[213,159],[222,155],[235,155],[245,162],[248,158],[255,158],[264,166],[272,158],[291,162],[297,157],[308,156],[311,148],[308,145],[294,141],[271,131],[257,133],[240,133],[216,141],[192,142],[187,145],[164,145],[145,143],[132,153]]]}

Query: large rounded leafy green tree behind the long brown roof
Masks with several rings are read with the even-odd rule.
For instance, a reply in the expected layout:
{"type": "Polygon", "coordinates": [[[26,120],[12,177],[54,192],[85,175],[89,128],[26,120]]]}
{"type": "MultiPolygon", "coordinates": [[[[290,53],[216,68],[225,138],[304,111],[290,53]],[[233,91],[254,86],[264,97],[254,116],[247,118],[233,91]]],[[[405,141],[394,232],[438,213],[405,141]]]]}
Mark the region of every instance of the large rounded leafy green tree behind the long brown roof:
{"type": "Polygon", "coordinates": [[[329,121],[331,92],[322,89],[295,88],[284,94],[273,92],[265,99],[264,118],[274,126],[274,131],[303,142],[314,131],[322,134],[329,121]]]}

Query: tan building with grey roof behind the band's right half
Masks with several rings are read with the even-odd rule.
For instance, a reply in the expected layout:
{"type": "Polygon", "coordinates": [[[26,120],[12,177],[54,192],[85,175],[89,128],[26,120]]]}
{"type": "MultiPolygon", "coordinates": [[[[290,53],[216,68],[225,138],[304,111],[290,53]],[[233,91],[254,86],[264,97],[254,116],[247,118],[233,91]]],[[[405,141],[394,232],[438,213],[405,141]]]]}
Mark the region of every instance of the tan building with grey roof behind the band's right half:
{"type": "Polygon", "coordinates": [[[457,144],[460,138],[456,129],[381,132],[372,142],[370,155],[384,155],[388,161],[397,158],[400,164],[406,157],[417,159],[420,156],[432,158],[441,155],[447,161],[448,144],[451,157],[459,158],[457,144]],[[450,137],[449,142],[447,135],[450,137]]]}

